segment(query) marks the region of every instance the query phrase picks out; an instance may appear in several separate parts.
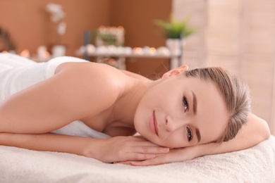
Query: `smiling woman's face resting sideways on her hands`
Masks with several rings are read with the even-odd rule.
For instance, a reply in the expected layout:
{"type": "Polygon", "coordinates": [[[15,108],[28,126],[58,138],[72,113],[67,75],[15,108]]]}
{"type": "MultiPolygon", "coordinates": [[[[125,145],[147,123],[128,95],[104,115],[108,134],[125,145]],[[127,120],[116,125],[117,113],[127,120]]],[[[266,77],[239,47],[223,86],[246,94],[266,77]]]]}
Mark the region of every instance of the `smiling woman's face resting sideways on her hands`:
{"type": "Polygon", "coordinates": [[[170,148],[207,144],[224,134],[228,111],[215,84],[183,75],[162,80],[139,103],[139,134],[170,148]]]}

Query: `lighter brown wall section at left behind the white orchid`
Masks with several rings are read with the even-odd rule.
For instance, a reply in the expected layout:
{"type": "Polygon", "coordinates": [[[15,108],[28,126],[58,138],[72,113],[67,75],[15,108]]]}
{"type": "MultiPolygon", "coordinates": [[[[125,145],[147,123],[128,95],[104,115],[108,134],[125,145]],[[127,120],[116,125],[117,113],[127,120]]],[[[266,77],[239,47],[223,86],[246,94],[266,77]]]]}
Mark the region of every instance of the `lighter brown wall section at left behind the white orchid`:
{"type": "MultiPolygon", "coordinates": [[[[8,30],[17,44],[17,52],[29,49],[36,53],[39,45],[56,42],[56,27],[49,19],[45,6],[49,0],[0,1],[0,26],[8,30]]],[[[82,44],[84,30],[92,30],[109,23],[109,0],[56,0],[66,13],[67,32],[62,37],[68,55],[82,44]]]]}

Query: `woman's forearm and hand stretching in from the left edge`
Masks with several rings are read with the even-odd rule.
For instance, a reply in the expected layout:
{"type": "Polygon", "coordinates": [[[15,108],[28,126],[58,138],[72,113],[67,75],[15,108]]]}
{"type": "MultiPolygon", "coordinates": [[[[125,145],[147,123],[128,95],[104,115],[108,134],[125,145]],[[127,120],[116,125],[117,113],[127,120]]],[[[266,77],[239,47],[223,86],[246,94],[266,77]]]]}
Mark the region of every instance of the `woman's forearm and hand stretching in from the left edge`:
{"type": "Polygon", "coordinates": [[[36,151],[57,151],[96,158],[104,163],[129,160],[147,160],[169,149],[156,146],[138,137],[112,137],[92,139],[63,134],[11,134],[0,133],[0,144],[36,151]]]}

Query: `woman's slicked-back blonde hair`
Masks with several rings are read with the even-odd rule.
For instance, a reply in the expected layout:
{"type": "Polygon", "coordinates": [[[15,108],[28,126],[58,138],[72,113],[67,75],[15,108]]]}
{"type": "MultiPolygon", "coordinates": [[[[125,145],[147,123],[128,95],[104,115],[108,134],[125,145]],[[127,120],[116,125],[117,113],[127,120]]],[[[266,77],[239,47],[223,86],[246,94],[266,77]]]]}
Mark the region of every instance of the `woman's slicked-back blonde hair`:
{"type": "Polygon", "coordinates": [[[236,137],[250,113],[250,92],[247,84],[219,67],[187,70],[185,76],[198,77],[206,82],[213,82],[224,96],[229,112],[229,122],[224,135],[215,142],[221,143],[236,137]]]}

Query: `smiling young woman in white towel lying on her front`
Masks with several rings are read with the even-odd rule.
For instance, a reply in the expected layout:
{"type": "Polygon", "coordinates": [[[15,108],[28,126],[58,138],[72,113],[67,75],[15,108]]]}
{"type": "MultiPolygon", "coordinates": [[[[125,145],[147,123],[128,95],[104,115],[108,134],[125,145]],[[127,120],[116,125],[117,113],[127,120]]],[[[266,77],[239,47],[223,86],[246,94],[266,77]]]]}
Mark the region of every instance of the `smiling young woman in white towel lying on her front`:
{"type": "Polygon", "coordinates": [[[158,165],[269,138],[245,84],[222,68],[183,65],[152,81],[73,57],[1,53],[0,65],[0,145],[158,165]]]}

